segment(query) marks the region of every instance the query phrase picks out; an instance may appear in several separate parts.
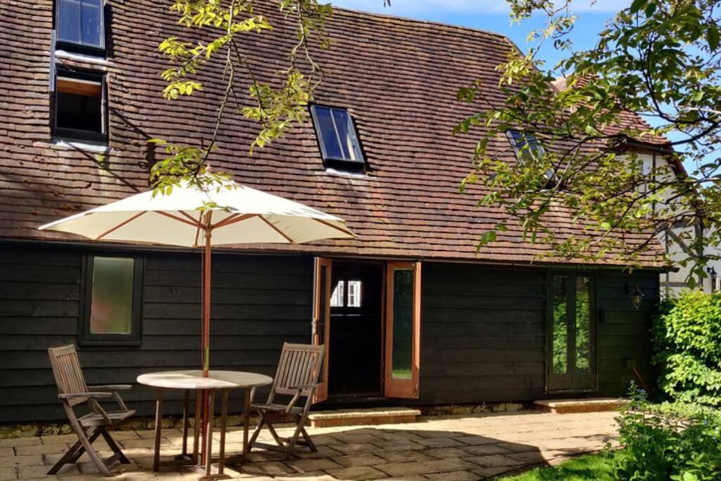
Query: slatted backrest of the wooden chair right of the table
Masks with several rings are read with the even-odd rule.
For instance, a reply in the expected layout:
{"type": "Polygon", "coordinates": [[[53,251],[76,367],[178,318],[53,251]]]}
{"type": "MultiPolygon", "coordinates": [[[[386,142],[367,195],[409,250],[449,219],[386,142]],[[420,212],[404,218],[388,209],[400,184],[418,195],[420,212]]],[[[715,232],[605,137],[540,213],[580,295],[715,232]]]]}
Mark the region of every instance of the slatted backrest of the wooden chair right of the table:
{"type": "MultiPolygon", "coordinates": [[[[322,345],[283,343],[280,352],[278,371],[273,380],[273,392],[277,394],[296,394],[294,386],[316,384],[320,379],[323,366],[322,345]]],[[[312,389],[304,389],[302,396],[309,396],[312,389]]]]}

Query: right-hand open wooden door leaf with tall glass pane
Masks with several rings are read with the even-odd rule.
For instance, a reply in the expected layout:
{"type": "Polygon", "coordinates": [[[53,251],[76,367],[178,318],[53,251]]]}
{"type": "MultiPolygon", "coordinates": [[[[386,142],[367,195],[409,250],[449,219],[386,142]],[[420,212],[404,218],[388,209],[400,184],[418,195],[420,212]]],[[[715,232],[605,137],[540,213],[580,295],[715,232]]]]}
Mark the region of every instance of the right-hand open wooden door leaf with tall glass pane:
{"type": "Polygon", "coordinates": [[[417,399],[420,376],[420,262],[388,262],[386,397],[417,399]]]}

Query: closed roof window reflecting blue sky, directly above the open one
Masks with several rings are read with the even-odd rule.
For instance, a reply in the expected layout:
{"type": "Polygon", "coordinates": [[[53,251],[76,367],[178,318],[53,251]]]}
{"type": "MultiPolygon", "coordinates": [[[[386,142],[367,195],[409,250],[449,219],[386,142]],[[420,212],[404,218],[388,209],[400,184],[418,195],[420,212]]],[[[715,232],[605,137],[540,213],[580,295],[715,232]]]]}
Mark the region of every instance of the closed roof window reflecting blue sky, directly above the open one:
{"type": "Polygon", "coordinates": [[[56,0],[57,43],[84,53],[105,51],[103,0],[56,0]]]}

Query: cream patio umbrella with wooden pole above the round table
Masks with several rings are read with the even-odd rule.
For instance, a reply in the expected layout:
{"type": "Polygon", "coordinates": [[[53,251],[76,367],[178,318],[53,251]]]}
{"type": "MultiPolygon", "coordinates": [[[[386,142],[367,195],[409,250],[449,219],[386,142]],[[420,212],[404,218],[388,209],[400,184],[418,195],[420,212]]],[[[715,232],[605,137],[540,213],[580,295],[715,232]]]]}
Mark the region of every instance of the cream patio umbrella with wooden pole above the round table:
{"type": "Polygon", "coordinates": [[[301,203],[228,181],[208,192],[187,183],[144,192],[39,227],[93,240],[204,247],[203,375],[210,369],[211,246],[300,244],[355,237],[345,221],[301,203]]]}

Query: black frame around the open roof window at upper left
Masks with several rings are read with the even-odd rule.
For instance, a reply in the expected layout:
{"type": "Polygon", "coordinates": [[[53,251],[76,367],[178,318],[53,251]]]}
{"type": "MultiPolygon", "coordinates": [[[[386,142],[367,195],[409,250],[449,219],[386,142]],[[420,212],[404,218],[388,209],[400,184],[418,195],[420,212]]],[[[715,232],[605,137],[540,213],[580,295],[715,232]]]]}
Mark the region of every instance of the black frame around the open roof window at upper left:
{"type": "Polygon", "coordinates": [[[91,141],[107,144],[107,81],[104,72],[81,71],[58,68],[53,79],[53,115],[50,117],[50,131],[53,138],[68,141],[91,141]],[[100,128],[102,132],[83,131],[77,128],[58,127],[58,79],[97,81],[100,83],[100,128]]]}

